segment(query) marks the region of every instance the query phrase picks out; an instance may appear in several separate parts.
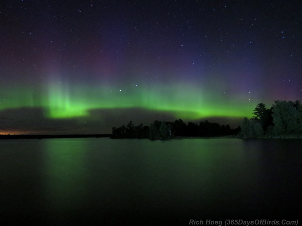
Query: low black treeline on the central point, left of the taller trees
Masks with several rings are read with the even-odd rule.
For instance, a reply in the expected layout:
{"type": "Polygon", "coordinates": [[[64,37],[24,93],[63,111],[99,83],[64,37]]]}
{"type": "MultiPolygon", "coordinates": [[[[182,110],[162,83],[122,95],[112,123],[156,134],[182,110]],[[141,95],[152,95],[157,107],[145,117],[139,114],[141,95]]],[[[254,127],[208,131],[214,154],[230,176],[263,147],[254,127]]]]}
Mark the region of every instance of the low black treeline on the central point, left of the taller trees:
{"type": "Polygon", "coordinates": [[[188,122],[185,124],[181,119],[175,122],[154,121],[150,126],[139,124],[134,126],[130,121],[127,126],[122,125],[118,128],[112,128],[111,138],[149,138],[155,139],[172,139],[175,137],[220,137],[236,135],[240,127],[231,129],[229,125],[220,125],[206,121],[199,124],[188,122]]]}

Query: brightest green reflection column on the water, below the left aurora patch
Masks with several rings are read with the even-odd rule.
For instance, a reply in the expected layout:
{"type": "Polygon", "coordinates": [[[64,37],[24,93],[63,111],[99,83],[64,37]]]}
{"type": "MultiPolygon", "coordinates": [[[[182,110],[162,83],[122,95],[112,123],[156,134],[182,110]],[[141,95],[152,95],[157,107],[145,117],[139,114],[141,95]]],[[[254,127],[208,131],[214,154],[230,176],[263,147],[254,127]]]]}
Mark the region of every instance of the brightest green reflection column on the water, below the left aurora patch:
{"type": "Polygon", "coordinates": [[[87,194],[86,139],[45,140],[46,207],[69,211],[85,206],[87,194]]]}

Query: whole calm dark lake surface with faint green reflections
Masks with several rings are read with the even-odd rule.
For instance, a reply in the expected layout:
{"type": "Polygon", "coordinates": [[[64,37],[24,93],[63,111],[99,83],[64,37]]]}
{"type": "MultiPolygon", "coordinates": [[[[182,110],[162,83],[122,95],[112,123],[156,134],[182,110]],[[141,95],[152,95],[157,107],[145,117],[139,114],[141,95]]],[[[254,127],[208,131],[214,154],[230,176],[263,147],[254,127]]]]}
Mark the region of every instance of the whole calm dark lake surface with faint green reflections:
{"type": "Polygon", "coordinates": [[[0,140],[0,221],[297,219],[301,175],[301,140],[0,140]]]}

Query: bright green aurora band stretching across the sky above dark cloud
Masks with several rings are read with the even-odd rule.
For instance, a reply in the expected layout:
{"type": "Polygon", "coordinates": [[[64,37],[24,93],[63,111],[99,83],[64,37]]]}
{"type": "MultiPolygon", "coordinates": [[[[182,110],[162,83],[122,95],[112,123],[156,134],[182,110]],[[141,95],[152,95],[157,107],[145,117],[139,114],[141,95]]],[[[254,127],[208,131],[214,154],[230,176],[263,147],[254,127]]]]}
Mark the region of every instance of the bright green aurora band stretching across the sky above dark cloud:
{"type": "Polygon", "coordinates": [[[252,110],[258,103],[240,93],[226,95],[227,90],[205,89],[192,84],[151,86],[133,83],[126,88],[119,87],[122,86],[98,83],[70,85],[61,80],[52,80],[46,86],[16,85],[2,90],[0,110],[42,107],[47,118],[75,118],[88,117],[92,109],[143,108],[170,112],[175,118],[198,120],[252,116],[252,110]]]}

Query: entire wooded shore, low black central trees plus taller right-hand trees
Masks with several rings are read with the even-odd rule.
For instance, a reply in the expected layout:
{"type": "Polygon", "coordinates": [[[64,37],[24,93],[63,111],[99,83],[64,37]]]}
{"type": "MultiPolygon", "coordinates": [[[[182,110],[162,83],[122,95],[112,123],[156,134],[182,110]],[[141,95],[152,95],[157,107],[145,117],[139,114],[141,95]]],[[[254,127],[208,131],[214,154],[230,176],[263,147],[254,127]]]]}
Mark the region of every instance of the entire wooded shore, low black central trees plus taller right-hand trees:
{"type": "Polygon", "coordinates": [[[229,125],[201,121],[199,124],[181,119],[154,121],[150,126],[135,126],[129,121],[127,126],[112,127],[113,139],[167,140],[182,138],[302,138],[302,104],[299,100],[275,101],[271,108],[259,103],[251,119],[245,117],[241,126],[231,129],[229,125]]]}

